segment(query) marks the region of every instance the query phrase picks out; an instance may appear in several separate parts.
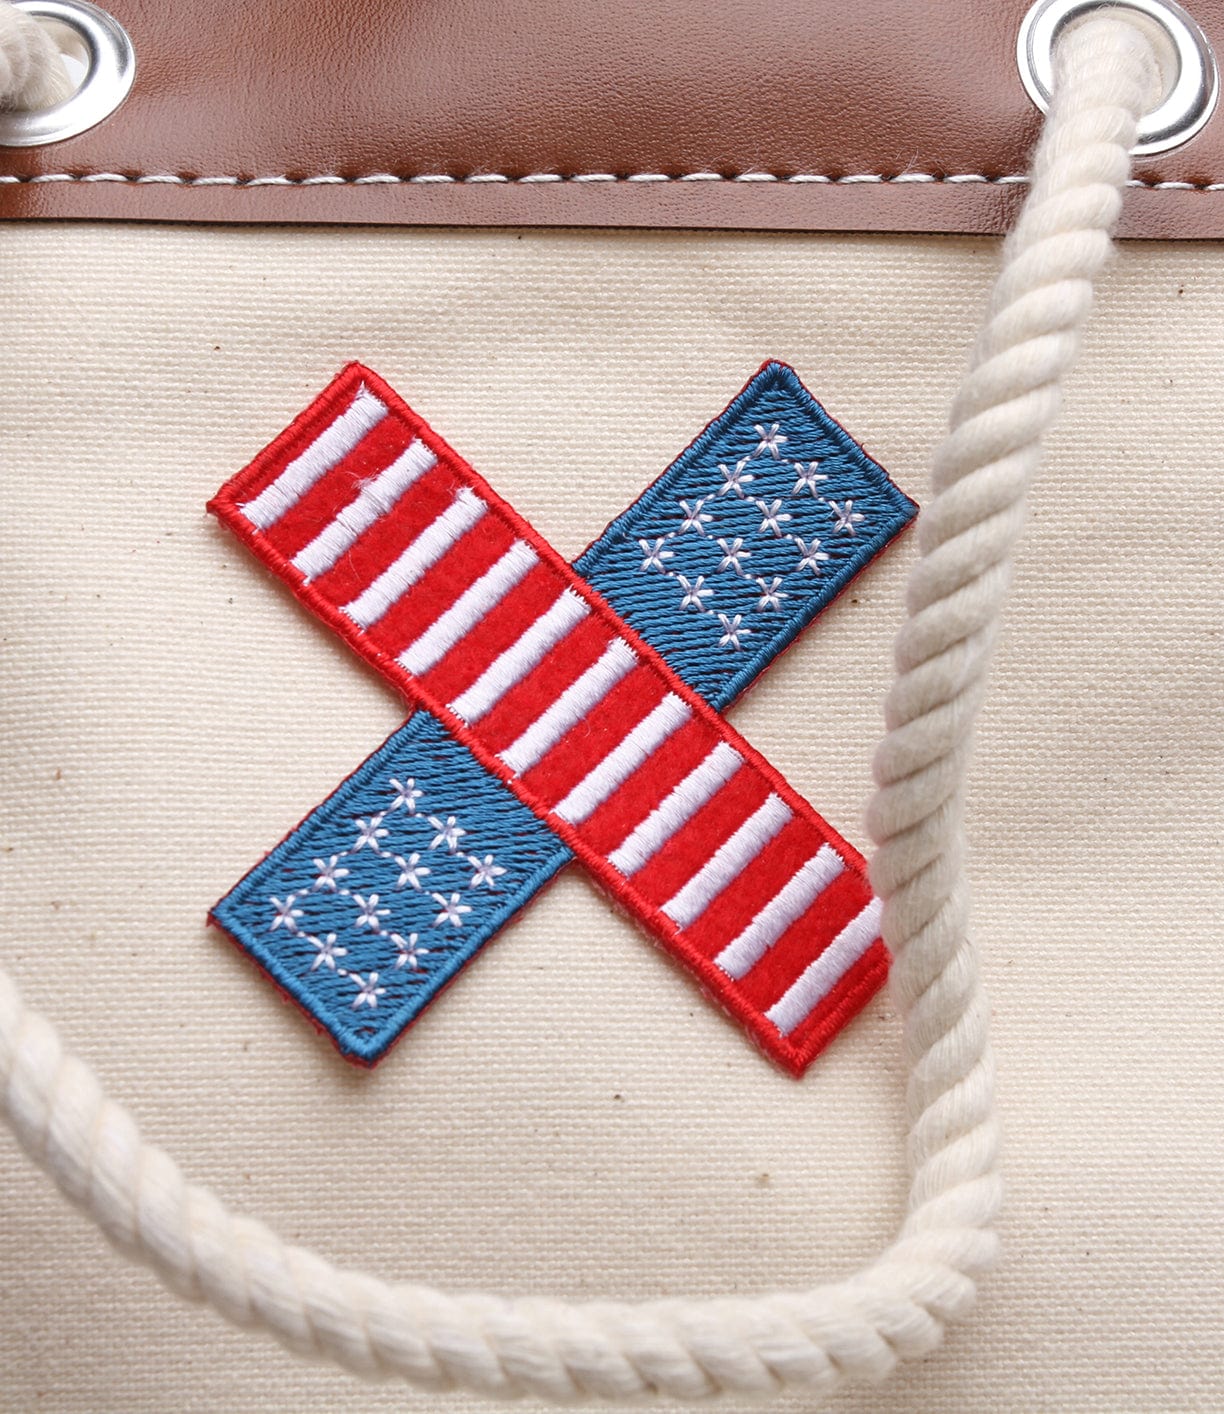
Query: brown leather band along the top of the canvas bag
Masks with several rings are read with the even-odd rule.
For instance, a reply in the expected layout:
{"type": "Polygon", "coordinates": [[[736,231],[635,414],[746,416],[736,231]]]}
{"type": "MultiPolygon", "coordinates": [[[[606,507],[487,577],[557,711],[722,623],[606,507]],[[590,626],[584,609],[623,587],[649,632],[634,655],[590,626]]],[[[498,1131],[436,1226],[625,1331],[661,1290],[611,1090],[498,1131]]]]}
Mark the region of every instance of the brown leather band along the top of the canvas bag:
{"type": "MultiPolygon", "coordinates": [[[[112,0],[131,96],[0,148],[0,218],[999,232],[1026,7],[112,0]]],[[[1224,236],[1224,116],[1138,180],[1124,235],[1224,236]]]]}

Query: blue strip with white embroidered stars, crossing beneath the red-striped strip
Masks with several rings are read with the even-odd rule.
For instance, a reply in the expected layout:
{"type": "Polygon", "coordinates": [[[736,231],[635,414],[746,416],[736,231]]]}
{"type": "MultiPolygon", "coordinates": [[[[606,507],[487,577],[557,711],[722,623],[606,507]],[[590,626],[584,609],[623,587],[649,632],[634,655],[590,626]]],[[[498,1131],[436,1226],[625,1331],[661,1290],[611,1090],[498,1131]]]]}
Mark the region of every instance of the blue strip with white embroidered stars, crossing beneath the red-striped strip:
{"type": "MultiPolygon", "coordinates": [[[[575,568],[722,711],[916,510],[767,363],[575,568]]],[[[373,1065],[571,858],[418,711],[212,918],[373,1065]]]]}

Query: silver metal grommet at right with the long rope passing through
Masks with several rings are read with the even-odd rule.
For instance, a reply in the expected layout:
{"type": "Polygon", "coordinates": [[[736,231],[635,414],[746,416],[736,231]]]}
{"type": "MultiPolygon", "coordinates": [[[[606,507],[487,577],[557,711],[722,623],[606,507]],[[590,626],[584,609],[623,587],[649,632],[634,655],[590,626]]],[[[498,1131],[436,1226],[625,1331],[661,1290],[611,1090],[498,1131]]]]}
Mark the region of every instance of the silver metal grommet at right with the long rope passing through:
{"type": "Polygon", "coordinates": [[[1173,0],[1037,0],[1020,24],[1016,64],[1029,98],[1044,113],[1054,85],[1054,41],[1073,20],[1093,10],[1134,10],[1158,24],[1177,61],[1163,102],[1139,123],[1136,154],[1167,153],[1203,129],[1216,112],[1220,75],[1207,35],[1173,0]]]}

